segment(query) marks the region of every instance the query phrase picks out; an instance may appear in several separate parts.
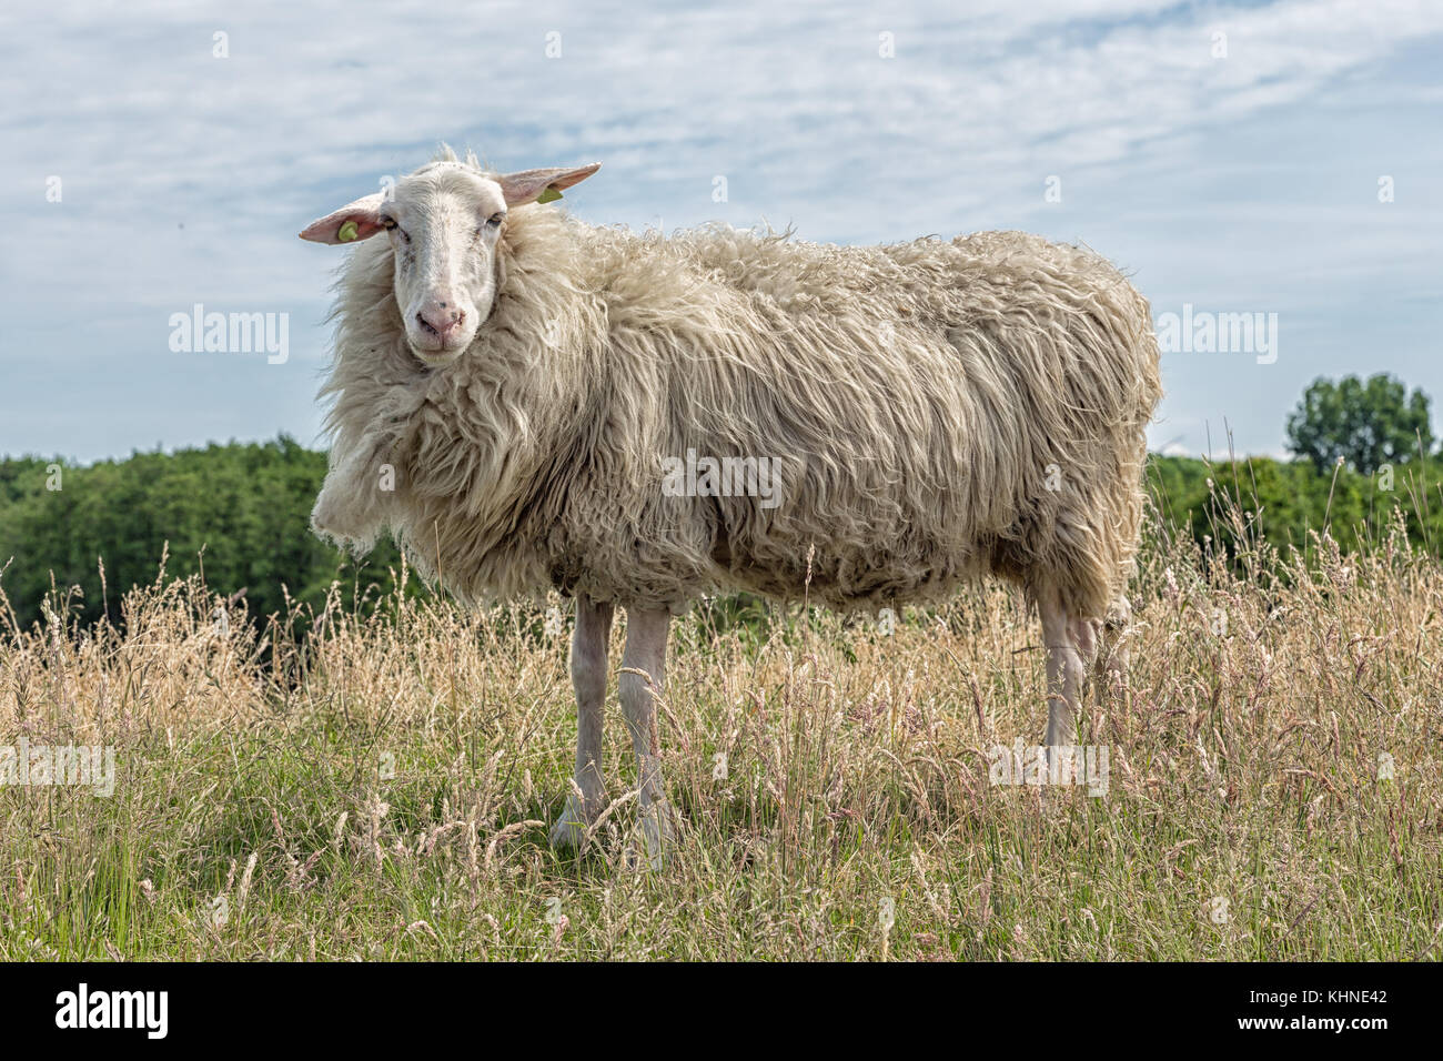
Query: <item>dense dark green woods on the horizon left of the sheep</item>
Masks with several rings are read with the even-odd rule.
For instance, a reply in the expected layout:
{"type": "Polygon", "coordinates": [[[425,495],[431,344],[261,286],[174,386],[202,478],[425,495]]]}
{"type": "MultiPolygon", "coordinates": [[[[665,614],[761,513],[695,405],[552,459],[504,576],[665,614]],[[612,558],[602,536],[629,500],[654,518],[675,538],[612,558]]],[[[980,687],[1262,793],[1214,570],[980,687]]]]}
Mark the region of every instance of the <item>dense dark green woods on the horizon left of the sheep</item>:
{"type": "Polygon", "coordinates": [[[65,466],[52,484],[61,463],[0,459],[0,588],[22,626],[40,616],[52,579],[81,588],[84,619],[105,611],[118,624],[121,595],[154,582],[167,547],[167,575],[203,570],[218,593],[244,589],[257,619],[284,612],[287,598],[319,606],[332,580],[387,586],[400,562],[391,543],[356,562],[310,533],[326,455],[286,436],[65,466]]]}

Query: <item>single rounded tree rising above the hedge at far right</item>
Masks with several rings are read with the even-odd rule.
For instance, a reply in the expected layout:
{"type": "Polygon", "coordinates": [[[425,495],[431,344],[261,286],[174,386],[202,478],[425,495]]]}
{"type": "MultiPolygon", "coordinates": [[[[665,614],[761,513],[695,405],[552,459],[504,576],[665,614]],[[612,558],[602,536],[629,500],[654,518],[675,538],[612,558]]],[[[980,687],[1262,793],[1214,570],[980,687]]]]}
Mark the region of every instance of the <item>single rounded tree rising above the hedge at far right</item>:
{"type": "Polygon", "coordinates": [[[1411,394],[1401,380],[1380,372],[1367,383],[1345,375],[1338,383],[1319,377],[1303,391],[1287,417],[1287,445],[1299,458],[1329,469],[1342,458],[1371,475],[1381,465],[1407,460],[1433,449],[1429,396],[1411,394]]]}

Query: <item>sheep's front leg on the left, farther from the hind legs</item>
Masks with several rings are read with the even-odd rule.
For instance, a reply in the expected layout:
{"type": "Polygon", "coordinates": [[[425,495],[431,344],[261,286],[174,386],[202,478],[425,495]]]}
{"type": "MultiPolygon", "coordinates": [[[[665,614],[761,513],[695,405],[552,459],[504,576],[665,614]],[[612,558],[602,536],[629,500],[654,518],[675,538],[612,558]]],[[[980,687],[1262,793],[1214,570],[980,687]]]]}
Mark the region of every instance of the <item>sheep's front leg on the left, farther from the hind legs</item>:
{"type": "Polygon", "coordinates": [[[606,722],[606,650],[612,632],[612,611],[609,603],[576,598],[576,631],[571,635],[576,787],[566,797],[560,820],[551,827],[551,846],[557,849],[577,847],[586,827],[596,821],[606,801],[602,728],[606,722]]]}

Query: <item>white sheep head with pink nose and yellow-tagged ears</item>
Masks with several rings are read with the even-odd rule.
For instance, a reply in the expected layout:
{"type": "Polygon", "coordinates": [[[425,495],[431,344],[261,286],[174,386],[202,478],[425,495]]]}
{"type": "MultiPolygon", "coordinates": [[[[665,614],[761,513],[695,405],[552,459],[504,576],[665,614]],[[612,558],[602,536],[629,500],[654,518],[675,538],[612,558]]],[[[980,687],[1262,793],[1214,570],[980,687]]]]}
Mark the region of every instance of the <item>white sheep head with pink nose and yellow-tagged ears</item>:
{"type": "Polygon", "coordinates": [[[385,232],[407,342],[424,364],[447,365],[491,316],[506,211],[560,198],[560,189],[597,169],[600,163],[488,175],[463,162],[433,162],[313,221],[300,238],[348,244],[385,232]]]}

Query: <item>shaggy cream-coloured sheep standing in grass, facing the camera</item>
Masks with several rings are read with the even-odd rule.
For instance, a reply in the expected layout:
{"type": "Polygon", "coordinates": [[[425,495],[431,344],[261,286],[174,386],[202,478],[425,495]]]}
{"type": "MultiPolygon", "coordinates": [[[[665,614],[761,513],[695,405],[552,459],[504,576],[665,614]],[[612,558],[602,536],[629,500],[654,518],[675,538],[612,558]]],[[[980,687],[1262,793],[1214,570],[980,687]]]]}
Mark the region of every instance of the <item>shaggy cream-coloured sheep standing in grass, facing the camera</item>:
{"type": "Polygon", "coordinates": [[[356,244],[315,531],[365,551],[388,530],[463,602],[576,601],[576,772],[553,844],[603,807],[618,605],[652,865],[675,836],[655,719],[668,626],[706,592],[853,609],[1009,579],[1042,621],[1048,745],[1071,743],[1104,622],[1127,619],[1162,396],[1146,299],[1094,253],[1023,232],[838,247],[544,205],[597,169],[502,175],[443,149],[300,234],[356,244]],[[765,459],[768,497],[755,465],[719,489],[727,459],[765,459]]]}

